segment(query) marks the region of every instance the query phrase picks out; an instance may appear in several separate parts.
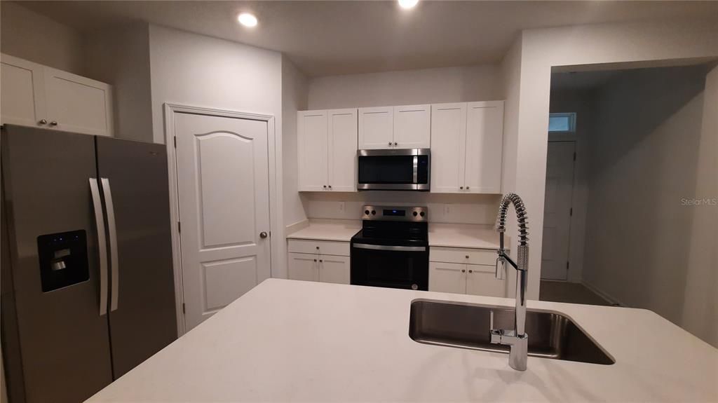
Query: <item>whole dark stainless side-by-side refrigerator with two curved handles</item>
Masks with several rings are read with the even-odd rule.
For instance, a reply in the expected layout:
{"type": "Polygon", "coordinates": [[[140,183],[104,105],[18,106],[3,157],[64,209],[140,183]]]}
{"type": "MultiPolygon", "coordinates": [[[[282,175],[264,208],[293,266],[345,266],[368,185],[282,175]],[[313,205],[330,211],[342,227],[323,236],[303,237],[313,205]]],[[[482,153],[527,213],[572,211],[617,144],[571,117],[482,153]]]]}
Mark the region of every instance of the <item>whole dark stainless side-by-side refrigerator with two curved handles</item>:
{"type": "Polygon", "coordinates": [[[80,402],[177,338],[167,153],[15,125],[0,147],[10,401],[80,402]]]}

